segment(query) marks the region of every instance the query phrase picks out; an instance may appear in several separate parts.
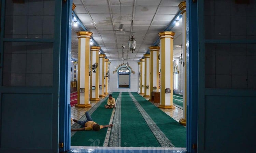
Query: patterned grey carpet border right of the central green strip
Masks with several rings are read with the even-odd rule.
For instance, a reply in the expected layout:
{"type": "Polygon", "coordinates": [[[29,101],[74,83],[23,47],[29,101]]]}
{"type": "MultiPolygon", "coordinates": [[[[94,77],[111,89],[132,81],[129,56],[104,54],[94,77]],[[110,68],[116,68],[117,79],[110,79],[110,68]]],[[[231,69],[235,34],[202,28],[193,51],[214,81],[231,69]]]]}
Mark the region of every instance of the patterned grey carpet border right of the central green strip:
{"type": "Polygon", "coordinates": [[[141,113],[142,117],[146,121],[148,127],[160,143],[161,147],[174,147],[172,142],[166,137],[165,134],[158,128],[156,123],[152,120],[152,118],[146,113],[146,111],[142,108],[142,106],[138,103],[138,101],[134,98],[134,96],[129,92],[129,95],[134,103],[134,105],[137,107],[139,112],[141,113]]]}

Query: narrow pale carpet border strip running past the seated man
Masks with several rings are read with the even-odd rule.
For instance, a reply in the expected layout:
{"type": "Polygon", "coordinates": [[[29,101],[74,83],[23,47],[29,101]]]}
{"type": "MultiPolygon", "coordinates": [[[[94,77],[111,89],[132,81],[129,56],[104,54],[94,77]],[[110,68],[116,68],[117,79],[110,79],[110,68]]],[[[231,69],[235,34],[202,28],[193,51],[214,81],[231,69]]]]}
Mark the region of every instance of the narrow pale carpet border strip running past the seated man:
{"type": "MultiPolygon", "coordinates": [[[[111,114],[111,118],[110,118],[110,121],[109,121],[109,124],[114,124],[115,125],[115,123],[116,122],[113,122],[114,121],[114,116],[115,116],[115,112],[116,112],[116,109],[117,109],[117,111],[119,111],[119,103],[121,103],[121,95],[122,95],[122,92],[119,92],[119,95],[118,95],[118,97],[117,97],[117,99],[116,99],[116,107],[115,108],[113,108],[113,111],[112,111],[112,114],[111,114]]],[[[110,142],[110,140],[111,140],[111,137],[113,137],[113,134],[111,134],[111,131],[112,131],[112,129],[115,129],[115,127],[116,127],[116,125],[115,126],[112,126],[112,127],[108,127],[108,131],[107,131],[107,133],[106,133],[106,137],[105,137],[105,140],[104,140],[104,143],[103,143],[103,147],[109,147],[109,142],[110,142]]],[[[113,132],[112,132],[113,133],[113,132]]],[[[113,138],[112,138],[113,139],[113,138]]]]}

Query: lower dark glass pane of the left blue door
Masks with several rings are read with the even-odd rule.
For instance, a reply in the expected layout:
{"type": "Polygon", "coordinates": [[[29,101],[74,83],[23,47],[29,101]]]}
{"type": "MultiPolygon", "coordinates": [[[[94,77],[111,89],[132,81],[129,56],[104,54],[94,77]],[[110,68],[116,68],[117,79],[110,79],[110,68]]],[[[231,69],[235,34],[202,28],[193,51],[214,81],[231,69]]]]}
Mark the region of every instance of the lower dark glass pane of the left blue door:
{"type": "Polygon", "coordinates": [[[53,43],[5,42],[3,86],[52,86],[53,43]]]}

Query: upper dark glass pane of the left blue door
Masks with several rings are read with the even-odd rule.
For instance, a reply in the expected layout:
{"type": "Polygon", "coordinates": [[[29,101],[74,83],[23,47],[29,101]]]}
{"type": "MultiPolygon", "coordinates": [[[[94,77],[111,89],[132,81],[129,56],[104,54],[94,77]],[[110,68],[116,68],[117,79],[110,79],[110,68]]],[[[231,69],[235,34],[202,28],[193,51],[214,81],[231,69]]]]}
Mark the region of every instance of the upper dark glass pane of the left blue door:
{"type": "Polygon", "coordinates": [[[5,38],[53,38],[55,0],[5,2],[5,38]]]}

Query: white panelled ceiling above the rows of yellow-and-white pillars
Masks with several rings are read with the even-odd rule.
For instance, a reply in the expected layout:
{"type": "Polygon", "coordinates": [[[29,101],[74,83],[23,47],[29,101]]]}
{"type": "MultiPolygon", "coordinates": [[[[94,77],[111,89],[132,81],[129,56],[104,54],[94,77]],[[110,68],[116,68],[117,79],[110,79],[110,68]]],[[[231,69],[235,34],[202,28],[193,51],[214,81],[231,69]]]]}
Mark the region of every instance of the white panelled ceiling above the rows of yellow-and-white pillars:
{"type": "MultiPolygon", "coordinates": [[[[169,26],[175,23],[174,17],[180,14],[178,5],[184,0],[122,0],[120,23],[123,29],[132,31],[136,39],[136,51],[127,49],[128,40],[132,33],[114,31],[119,27],[119,0],[73,0],[76,5],[74,16],[84,25],[87,31],[93,32],[93,39],[100,46],[101,52],[109,60],[121,60],[122,51],[125,58],[139,61],[154,45],[158,33],[165,31],[175,32],[173,41],[173,57],[179,58],[182,45],[182,19],[179,26],[169,26]],[[132,25],[133,20],[133,26],[132,25]],[[169,28],[169,27],[171,28],[169,28]],[[122,50],[122,45],[126,49],[122,50]]],[[[75,20],[73,20],[75,21],[75,20]]],[[[78,39],[76,32],[84,31],[81,25],[72,26],[72,51],[73,59],[77,60],[78,39]]],[[[158,45],[158,43],[155,43],[158,45]]]]}

